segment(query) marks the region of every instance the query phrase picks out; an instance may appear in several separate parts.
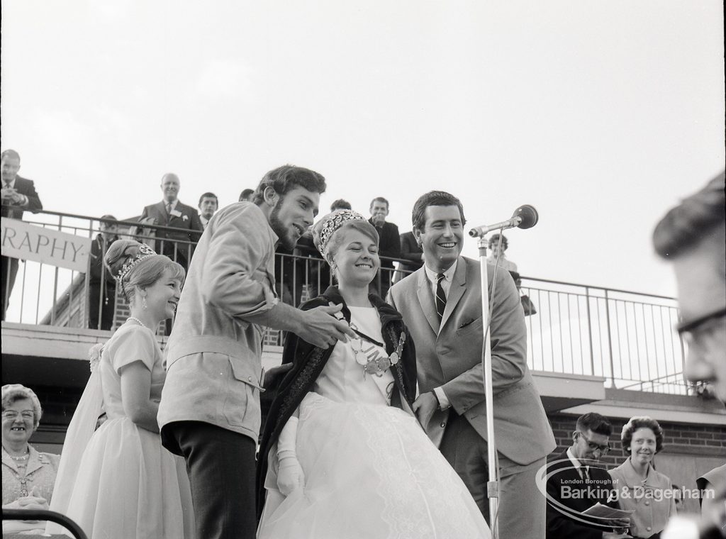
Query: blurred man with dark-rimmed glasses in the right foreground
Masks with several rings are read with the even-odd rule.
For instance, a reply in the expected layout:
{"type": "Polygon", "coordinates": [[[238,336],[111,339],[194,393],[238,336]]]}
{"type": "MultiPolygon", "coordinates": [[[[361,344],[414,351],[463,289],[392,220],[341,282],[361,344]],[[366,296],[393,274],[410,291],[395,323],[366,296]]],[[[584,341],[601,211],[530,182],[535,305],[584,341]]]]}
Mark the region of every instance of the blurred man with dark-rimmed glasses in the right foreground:
{"type": "MultiPolygon", "coordinates": [[[[687,347],[685,376],[704,381],[726,402],[726,219],[722,171],[698,193],[672,208],[653,232],[653,246],[673,262],[687,347]]],[[[699,477],[714,496],[704,498],[701,521],[673,517],[663,538],[717,538],[726,533],[726,473],[723,466],[699,477]],[[682,522],[678,522],[681,520],[682,522]]]]}

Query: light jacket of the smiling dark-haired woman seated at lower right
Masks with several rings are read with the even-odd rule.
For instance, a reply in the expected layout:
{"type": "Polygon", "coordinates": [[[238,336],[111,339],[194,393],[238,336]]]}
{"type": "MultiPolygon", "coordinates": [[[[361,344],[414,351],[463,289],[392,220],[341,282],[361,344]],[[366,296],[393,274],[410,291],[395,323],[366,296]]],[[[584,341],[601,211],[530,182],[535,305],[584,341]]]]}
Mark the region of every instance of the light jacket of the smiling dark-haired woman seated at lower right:
{"type": "Polygon", "coordinates": [[[620,508],[635,511],[630,516],[630,535],[650,537],[663,531],[668,519],[676,514],[671,480],[650,466],[648,477],[643,481],[629,458],[608,473],[613,478],[620,508]]]}

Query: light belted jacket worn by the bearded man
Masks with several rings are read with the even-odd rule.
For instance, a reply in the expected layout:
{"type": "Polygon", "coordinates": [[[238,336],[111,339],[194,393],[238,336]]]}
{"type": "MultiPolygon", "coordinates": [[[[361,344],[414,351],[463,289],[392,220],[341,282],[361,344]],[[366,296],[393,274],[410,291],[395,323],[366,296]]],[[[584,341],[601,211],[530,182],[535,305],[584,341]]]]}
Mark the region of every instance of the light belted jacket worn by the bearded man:
{"type": "MultiPolygon", "coordinates": [[[[166,350],[158,422],[203,421],[257,442],[277,235],[253,203],[218,211],[197,244],[166,350]]],[[[173,447],[169,447],[174,450],[173,447]]]]}

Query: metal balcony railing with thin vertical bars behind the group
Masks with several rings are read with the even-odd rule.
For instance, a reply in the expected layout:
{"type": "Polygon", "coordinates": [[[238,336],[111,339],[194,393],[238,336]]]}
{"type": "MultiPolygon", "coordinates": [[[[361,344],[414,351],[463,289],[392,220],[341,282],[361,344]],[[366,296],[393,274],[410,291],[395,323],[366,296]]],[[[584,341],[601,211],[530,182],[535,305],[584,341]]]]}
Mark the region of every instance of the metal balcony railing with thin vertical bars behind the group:
{"type": "MultiPolygon", "coordinates": [[[[133,221],[110,222],[97,217],[43,211],[26,222],[86,238],[94,238],[102,222],[115,224],[120,237],[129,237],[133,221]]],[[[143,225],[137,239],[156,241],[160,231],[188,232],[143,225]]],[[[167,240],[168,242],[168,240],[167,240]]],[[[193,248],[193,242],[171,242],[171,257],[193,248]]],[[[399,262],[399,261],[395,261],[399,262]]],[[[282,301],[298,305],[330,284],[327,264],[311,248],[276,255],[277,292],[282,301]]],[[[104,270],[105,271],[105,270],[104,270]]],[[[386,288],[400,270],[382,269],[375,288],[386,288]]],[[[3,278],[5,275],[3,275],[3,278]]],[[[682,375],[684,345],[673,331],[676,301],[665,296],[522,277],[521,292],[529,296],[537,313],[526,317],[528,362],[533,370],[583,376],[601,376],[609,387],[645,392],[688,394],[692,386],[682,375]]],[[[89,304],[88,273],[37,262],[21,264],[9,299],[6,320],[35,325],[89,327],[89,312],[102,305],[89,304]]],[[[102,298],[101,300],[102,301],[102,298]]],[[[116,293],[112,327],[128,315],[126,301],[116,293]]],[[[280,346],[279,331],[267,331],[268,346],[280,346]]]]}

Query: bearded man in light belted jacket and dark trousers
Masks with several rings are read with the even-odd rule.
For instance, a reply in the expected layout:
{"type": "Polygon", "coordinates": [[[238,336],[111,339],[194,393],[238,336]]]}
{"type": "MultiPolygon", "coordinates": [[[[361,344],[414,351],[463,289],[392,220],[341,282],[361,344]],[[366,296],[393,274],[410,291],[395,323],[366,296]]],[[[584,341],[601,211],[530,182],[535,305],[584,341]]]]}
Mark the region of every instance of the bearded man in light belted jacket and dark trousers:
{"type": "Polygon", "coordinates": [[[327,348],[346,335],[342,306],[301,311],[277,299],[274,248],[293,249],[317,215],[325,179],[297,166],[269,171],[253,203],[213,217],[197,245],[166,345],[158,423],[183,455],[197,538],[254,538],[264,326],[327,348]]]}

